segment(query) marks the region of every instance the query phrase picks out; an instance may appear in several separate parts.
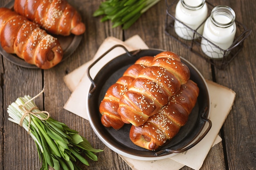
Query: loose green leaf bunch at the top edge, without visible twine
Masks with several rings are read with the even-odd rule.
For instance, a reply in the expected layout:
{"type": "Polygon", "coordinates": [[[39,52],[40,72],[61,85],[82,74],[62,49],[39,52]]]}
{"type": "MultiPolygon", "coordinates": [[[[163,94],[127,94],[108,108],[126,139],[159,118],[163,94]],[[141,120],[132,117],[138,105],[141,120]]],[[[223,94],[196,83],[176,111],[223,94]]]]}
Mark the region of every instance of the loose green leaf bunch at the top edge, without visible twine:
{"type": "Polygon", "coordinates": [[[111,20],[112,28],[122,25],[128,29],[148,9],[160,0],[106,0],[101,2],[99,8],[94,11],[93,16],[103,15],[101,22],[111,20]]]}

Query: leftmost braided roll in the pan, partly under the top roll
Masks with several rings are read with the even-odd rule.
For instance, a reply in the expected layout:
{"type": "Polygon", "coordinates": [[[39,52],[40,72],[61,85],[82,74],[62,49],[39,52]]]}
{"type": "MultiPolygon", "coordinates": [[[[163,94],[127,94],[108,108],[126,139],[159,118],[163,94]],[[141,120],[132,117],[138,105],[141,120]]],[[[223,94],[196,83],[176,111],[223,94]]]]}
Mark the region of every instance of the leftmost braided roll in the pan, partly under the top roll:
{"type": "Polygon", "coordinates": [[[119,100],[124,92],[128,90],[132,81],[138,76],[139,72],[151,64],[153,58],[154,57],[151,56],[139,58],[124,72],[123,76],[121,76],[115,84],[108,88],[99,106],[99,111],[102,115],[101,123],[104,126],[112,127],[116,130],[124,126],[124,122],[117,113],[119,100]]]}

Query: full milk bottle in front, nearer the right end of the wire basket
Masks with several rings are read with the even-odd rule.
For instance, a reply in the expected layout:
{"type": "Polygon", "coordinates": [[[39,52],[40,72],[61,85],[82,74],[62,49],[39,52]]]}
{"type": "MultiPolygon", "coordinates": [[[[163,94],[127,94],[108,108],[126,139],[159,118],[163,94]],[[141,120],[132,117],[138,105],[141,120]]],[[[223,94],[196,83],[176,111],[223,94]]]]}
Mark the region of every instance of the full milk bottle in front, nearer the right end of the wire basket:
{"type": "Polygon", "coordinates": [[[202,38],[201,48],[204,54],[214,59],[223,58],[224,50],[227,50],[234,41],[235,19],[236,14],[230,7],[220,5],[213,8],[210,17],[205,22],[203,37],[216,46],[202,38]]]}

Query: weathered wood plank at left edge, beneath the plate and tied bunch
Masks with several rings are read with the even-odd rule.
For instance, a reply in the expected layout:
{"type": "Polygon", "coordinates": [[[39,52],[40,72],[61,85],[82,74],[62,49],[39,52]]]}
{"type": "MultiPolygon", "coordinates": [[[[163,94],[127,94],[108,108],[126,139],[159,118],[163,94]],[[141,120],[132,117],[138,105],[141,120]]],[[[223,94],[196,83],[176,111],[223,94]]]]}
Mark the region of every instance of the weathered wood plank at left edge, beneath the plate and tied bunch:
{"type": "MultiPolygon", "coordinates": [[[[34,89],[42,87],[41,70],[31,70],[13,65],[6,59],[4,62],[3,86],[3,153],[5,169],[38,169],[40,161],[34,140],[27,131],[18,124],[8,120],[7,107],[18,97],[35,96],[34,89]]],[[[42,108],[43,98],[36,99],[38,107],[42,108]]]]}

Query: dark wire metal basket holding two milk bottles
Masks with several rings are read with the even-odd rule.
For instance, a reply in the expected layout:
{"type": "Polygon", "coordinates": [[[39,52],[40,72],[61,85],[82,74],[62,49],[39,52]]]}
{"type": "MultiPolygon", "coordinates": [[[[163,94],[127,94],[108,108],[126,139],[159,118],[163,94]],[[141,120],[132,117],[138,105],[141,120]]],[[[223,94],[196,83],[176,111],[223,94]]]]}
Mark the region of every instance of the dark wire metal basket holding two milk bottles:
{"type": "MultiPolygon", "coordinates": [[[[197,29],[192,29],[177,18],[175,18],[175,7],[176,4],[179,0],[174,0],[170,3],[168,3],[168,0],[165,0],[166,2],[166,22],[165,22],[165,33],[169,37],[175,39],[176,41],[180,42],[183,46],[186,48],[189,48],[192,52],[197,54],[198,56],[202,57],[205,59],[207,62],[213,64],[216,68],[218,69],[224,69],[229,65],[229,63],[238,55],[238,53],[242,50],[243,48],[243,42],[244,40],[250,35],[252,30],[247,29],[241,22],[235,21],[236,22],[236,35],[233,44],[227,49],[223,50],[222,48],[216,46],[213,42],[209,41],[207,38],[203,37],[200,33],[197,32],[197,29]],[[198,37],[196,39],[192,40],[185,40],[177,36],[175,33],[174,29],[174,22],[179,22],[182,24],[187,30],[193,32],[193,37],[198,37]],[[219,58],[212,58],[208,57],[206,54],[201,49],[201,40],[205,39],[208,44],[211,44],[215,49],[218,49],[218,51],[221,52],[222,56],[219,58]]],[[[207,2],[207,7],[208,7],[208,17],[211,13],[211,10],[214,8],[212,4],[207,2]]],[[[208,18],[207,17],[207,18],[208,18]]],[[[202,22],[200,26],[202,26],[205,23],[202,22]]],[[[198,26],[198,28],[200,28],[198,26]]]]}

